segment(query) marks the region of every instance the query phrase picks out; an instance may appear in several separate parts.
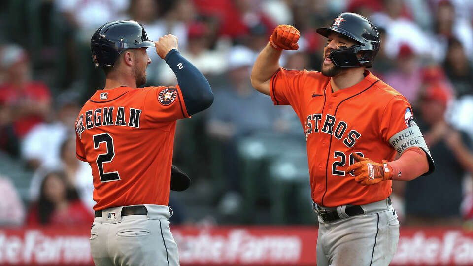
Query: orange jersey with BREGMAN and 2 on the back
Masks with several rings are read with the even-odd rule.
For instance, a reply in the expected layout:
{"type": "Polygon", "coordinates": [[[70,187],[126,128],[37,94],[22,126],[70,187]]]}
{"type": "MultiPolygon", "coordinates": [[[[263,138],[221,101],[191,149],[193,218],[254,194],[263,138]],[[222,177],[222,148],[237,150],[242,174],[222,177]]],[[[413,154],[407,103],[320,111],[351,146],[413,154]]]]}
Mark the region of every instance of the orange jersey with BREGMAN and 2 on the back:
{"type": "Polygon", "coordinates": [[[188,118],[179,86],[98,90],[76,121],[77,158],[94,178],[94,210],[168,205],[176,120],[188,118]]]}

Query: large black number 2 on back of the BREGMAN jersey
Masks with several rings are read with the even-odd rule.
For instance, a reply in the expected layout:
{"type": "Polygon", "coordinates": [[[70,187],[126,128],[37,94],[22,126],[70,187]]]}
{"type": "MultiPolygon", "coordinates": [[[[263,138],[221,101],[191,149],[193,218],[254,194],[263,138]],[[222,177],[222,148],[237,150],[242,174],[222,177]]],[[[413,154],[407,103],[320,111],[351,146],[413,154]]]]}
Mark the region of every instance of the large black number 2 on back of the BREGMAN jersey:
{"type": "Polygon", "coordinates": [[[103,172],[103,163],[110,163],[113,160],[113,157],[115,157],[115,147],[113,147],[113,138],[109,133],[94,135],[94,149],[98,149],[102,142],[105,142],[107,153],[101,153],[97,156],[96,162],[99,167],[100,181],[103,183],[120,180],[118,171],[103,172]]]}

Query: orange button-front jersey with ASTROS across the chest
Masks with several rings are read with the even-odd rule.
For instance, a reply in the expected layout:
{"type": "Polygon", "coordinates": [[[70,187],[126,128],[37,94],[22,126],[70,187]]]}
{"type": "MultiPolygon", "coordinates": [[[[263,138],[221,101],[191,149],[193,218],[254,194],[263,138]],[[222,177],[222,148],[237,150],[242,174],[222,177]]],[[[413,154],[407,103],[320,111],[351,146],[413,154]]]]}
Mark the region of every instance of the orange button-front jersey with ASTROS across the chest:
{"type": "Polygon", "coordinates": [[[330,77],[280,68],[271,78],[275,105],[291,105],[307,138],[312,199],[317,205],[362,205],[386,199],[392,181],[362,186],[346,173],[352,152],[381,162],[393,160],[389,139],[405,130],[412,109],[399,92],[369,71],[358,84],[332,91],[330,77]]]}

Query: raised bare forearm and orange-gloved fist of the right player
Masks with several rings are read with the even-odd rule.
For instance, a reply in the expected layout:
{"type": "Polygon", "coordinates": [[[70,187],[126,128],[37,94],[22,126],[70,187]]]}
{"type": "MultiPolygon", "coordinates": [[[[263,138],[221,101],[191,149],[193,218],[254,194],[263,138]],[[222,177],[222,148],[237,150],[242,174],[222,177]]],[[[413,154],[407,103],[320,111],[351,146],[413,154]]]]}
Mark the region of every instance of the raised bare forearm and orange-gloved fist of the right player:
{"type": "Polygon", "coordinates": [[[261,93],[270,95],[270,79],[279,69],[282,49],[297,50],[299,31],[290,25],[279,25],[274,29],[269,43],[261,51],[251,70],[251,84],[261,93]]]}

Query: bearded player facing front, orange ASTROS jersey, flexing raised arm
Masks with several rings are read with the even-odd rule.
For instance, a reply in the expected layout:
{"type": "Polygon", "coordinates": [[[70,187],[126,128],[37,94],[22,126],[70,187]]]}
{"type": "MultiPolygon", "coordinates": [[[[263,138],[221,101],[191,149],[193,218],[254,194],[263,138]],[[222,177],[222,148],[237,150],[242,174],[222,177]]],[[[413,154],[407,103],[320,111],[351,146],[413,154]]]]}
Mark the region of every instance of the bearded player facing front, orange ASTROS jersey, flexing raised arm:
{"type": "Polygon", "coordinates": [[[376,27],[342,13],[317,33],[327,38],[321,72],[279,67],[281,50],[297,50],[300,36],[279,25],[251,81],[275,105],[291,105],[303,126],[319,214],[317,265],[386,266],[399,239],[392,180],[428,174],[434,163],[409,102],[366,70],[380,46],[376,27]]]}

